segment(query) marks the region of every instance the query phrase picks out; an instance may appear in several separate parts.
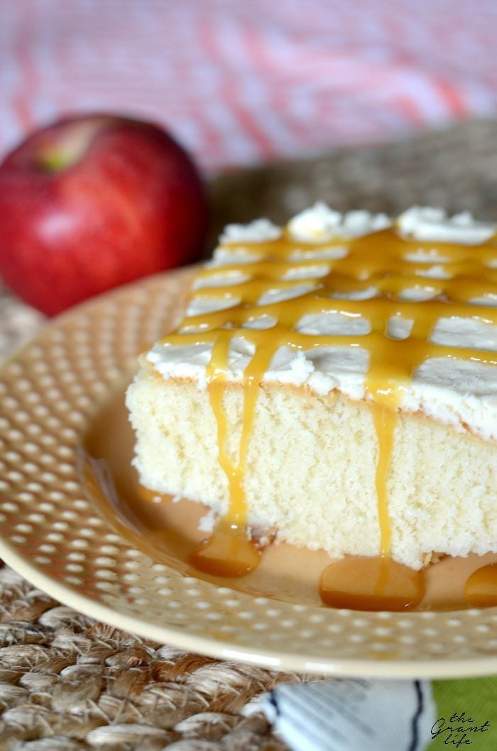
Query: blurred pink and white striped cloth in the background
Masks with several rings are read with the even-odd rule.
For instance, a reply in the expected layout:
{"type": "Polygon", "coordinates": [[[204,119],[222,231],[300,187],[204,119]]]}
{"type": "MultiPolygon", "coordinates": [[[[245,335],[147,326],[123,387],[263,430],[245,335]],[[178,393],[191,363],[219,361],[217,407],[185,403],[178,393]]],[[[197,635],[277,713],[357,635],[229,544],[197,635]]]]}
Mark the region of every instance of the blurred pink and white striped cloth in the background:
{"type": "Polygon", "coordinates": [[[497,111],[495,0],[0,0],[0,152],[75,110],[207,170],[497,111]]]}

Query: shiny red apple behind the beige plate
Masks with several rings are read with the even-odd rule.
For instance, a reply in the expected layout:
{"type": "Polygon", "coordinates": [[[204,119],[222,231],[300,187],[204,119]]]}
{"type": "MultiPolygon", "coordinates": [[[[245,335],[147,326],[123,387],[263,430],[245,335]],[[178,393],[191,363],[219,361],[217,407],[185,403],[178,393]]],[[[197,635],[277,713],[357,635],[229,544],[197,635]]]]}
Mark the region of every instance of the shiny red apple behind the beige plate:
{"type": "Polygon", "coordinates": [[[0,275],[54,315],[116,285],[194,261],[206,201],[191,159],[158,125],[74,116],[0,165],[0,275]]]}

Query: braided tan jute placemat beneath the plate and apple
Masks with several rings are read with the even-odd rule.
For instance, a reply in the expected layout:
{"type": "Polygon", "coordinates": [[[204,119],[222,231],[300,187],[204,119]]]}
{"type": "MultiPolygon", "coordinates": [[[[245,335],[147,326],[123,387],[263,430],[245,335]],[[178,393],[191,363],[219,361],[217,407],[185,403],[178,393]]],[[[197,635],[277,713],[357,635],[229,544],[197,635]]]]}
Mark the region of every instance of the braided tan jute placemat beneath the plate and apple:
{"type": "MultiPolygon", "coordinates": [[[[411,204],[497,218],[497,122],[233,170],[212,179],[212,239],[226,222],[284,222],[314,201],[397,213],[411,204]]],[[[0,359],[43,316],[0,288],[0,359]]],[[[72,611],[0,569],[0,751],[212,751],[286,746],[260,711],[306,680],[154,644],[72,611]]]]}

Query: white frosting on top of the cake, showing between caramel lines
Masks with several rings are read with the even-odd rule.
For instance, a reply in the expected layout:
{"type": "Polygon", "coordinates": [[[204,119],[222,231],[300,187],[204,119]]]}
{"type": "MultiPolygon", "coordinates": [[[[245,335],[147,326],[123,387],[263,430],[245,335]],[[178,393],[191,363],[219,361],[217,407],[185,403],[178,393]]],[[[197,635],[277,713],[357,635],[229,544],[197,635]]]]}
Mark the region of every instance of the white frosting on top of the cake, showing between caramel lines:
{"type": "MultiPolygon", "coordinates": [[[[326,243],[332,236],[348,233],[348,237],[357,236],[364,232],[371,232],[386,226],[389,223],[383,215],[372,216],[366,212],[351,212],[346,215],[333,212],[324,204],[316,204],[312,209],[299,214],[289,223],[289,231],[299,241],[322,240],[326,243]]],[[[482,222],[474,222],[468,214],[462,214],[447,219],[442,210],[419,209],[414,207],[408,210],[398,220],[399,232],[410,239],[423,241],[459,243],[471,245],[487,240],[495,231],[491,225],[482,222]]],[[[232,229],[225,232],[224,240],[229,242],[264,242],[279,237],[281,231],[276,229],[270,222],[261,220],[247,225],[244,234],[241,225],[230,225],[232,229]],[[233,229],[236,228],[236,229],[233,229]],[[265,233],[265,234],[264,234],[265,233]],[[272,237],[268,237],[272,234],[272,237]],[[257,240],[255,237],[257,236],[257,240]],[[234,240],[233,240],[234,238],[234,240]]],[[[347,253],[346,248],[337,249],[320,248],[303,249],[305,256],[296,258],[299,260],[319,260],[324,258],[323,251],[330,252],[326,258],[343,258],[347,253]]],[[[211,267],[219,267],[218,279],[224,279],[222,267],[224,265],[239,263],[240,258],[253,261],[257,256],[252,255],[243,246],[224,247],[215,251],[211,267]]],[[[424,252],[423,258],[417,253],[411,254],[413,262],[434,262],[430,267],[432,273],[426,276],[439,278],[444,273],[444,261],[442,255],[436,251],[424,252]],[[435,271],[434,271],[435,270],[435,271]]],[[[497,252],[496,252],[497,256],[497,252]]],[[[327,264],[324,264],[327,267],[327,264]]],[[[308,267],[308,275],[316,279],[321,269],[321,264],[316,267],[308,267]]],[[[287,277],[288,278],[288,277],[287,277]]],[[[233,278],[229,282],[243,282],[247,276],[233,278]]],[[[318,280],[312,283],[305,282],[306,274],[295,273],[291,276],[294,284],[285,282],[279,286],[276,279],[274,287],[261,295],[258,300],[259,306],[270,305],[281,300],[299,297],[306,294],[318,284],[318,280]]],[[[206,286],[221,286],[212,284],[212,279],[203,279],[197,288],[202,287],[203,297],[193,297],[188,308],[188,315],[198,315],[200,312],[215,309],[226,309],[239,303],[239,299],[224,298],[215,300],[208,298],[206,286]],[[206,283],[204,283],[206,282],[206,283]],[[207,297],[205,297],[207,296],[207,297]]],[[[348,297],[354,300],[375,297],[375,288],[352,291],[348,294],[336,294],[334,297],[348,297]]],[[[435,294],[435,289],[430,291],[428,280],[421,282],[419,287],[413,287],[402,294],[405,300],[426,300],[435,294]],[[426,286],[428,289],[426,289],[426,286]]],[[[478,300],[480,304],[491,304],[489,297],[478,300]]],[[[495,304],[495,300],[493,301],[495,304]]],[[[261,310],[261,315],[255,313],[243,326],[249,329],[264,329],[272,327],[276,320],[261,310]]],[[[390,318],[387,327],[388,336],[394,339],[405,339],[411,333],[413,321],[395,316],[390,318]]],[[[306,314],[297,321],[296,330],[309,336],[363,336],[370,330],[369,321],[366,318],[353,315],[345,315],[340,312],[326,312],[319,314],[306,314]]],[[[441,318],[432,331],[432,343],[447,345],[450,347],[477,348],[489,352],[497,351],[497,327],[489,324],[482,318],[441,318]]],[[[270,367],[264,374],[264,380],[294,385],[307,385],[318,394],[328,394],[333,389],[339,389],[351,399],[365,397],[365,375],[369,366],[369,352],[366,348],[346,347],[317,347],[312,348],[309,342],[309,350],[295,350],[289,347],[280,347],[273,357],[270,367]]],[[[164,377],[170,376],[191,378],[197,381],[199,388],[206,388],[206,365],[209,363],[211,344],[192,344],[173,346],[167,343],[156,344],[147,354],[147,359],[153,364],[158,372],[164,377]]],[[[232,381],[241,381],[243,372],[254,353],[254,345],[240,336],[233,337],[230,343],[228,357],[229,372],[227,378],[232,381]]],[[[453,360],[447,357],[431,357],[426,360],[417,371],[413,379],[405,385],[402,391],[402,409],[417,412],[422,411],[426,415],[450,424],[456,430],[465,430],[465,426],[471,428],[474,433],[480,434],[485,439],[497,439],[497,368],[492,365],[476,363],[468,360],[453,360]]]]}

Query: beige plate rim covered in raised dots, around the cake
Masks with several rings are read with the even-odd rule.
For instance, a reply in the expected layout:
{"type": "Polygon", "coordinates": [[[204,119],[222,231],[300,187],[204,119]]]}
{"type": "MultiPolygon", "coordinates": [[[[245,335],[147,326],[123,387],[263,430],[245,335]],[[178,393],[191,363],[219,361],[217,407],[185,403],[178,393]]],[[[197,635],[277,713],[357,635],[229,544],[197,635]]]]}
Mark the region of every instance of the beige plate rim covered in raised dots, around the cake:
{"type": "Polygon", "coordinates": [[[190,273],[152,277],[80,306],[3,366],[5,561],[90,616],[211,656],[322,674],[497,673],[497,608],[358,613],[256,596],[152,560],[88,501],[80,474],[86,436],[122,393],[137,352],[176,323],[190,273]]]}

